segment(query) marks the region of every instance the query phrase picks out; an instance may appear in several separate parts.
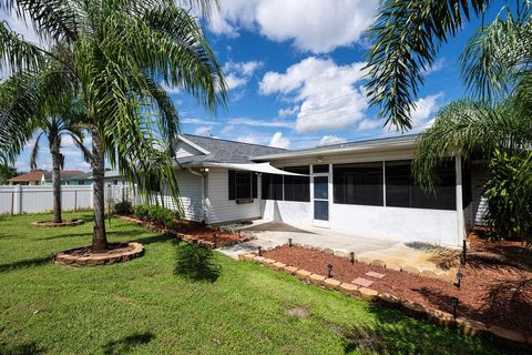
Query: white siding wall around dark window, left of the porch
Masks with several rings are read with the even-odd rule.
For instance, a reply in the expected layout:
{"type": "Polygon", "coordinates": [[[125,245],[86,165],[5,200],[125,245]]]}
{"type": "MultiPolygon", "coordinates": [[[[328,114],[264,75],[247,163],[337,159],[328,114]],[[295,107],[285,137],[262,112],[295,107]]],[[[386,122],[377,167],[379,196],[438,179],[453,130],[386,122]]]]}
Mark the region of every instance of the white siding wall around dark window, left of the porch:
{"type": "MultiPolygon", "coordinates": [[[[260,176],[258,176],[260,178],[260,176]]],[[[229,175],[227,169],[209,168],[207,189],[205,194],[207,223],[221,223],[260,217],[260,202],[236,203],[229,200],[229,175]]],[[[257,179],[258,193],[260,193],[260,179],[257,179]]]]}

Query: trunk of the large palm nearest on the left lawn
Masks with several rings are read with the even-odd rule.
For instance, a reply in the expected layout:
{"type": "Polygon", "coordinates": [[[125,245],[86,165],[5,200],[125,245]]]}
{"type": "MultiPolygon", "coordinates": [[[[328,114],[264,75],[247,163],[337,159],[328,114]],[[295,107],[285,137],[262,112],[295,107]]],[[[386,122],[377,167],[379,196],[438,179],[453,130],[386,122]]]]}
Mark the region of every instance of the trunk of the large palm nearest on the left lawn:
{"type": "Polygon", "coordinates": [[[96,129],[92,129],[92,181],[94,186],[94,231],[92,234],[92,251],[94,253],[108,250],[105,235],[105,192],[104,192],[105,159],[102,141],[96,129]]]}

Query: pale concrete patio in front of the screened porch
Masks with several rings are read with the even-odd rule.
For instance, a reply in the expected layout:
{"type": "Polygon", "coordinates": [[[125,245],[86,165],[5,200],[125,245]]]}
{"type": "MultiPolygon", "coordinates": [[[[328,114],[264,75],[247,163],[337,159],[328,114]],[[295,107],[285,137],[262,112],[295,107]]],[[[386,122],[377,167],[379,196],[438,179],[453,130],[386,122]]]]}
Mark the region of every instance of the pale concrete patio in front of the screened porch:
{"type": "Polygon", "coordinates": [[[382,260],[387,264],[418,268],[419,272],[432,271],[438,274],[451,274],[459,251],[424,243],[405,243],[393,240],[358,236],[314,226],[288,225],[283,222],[254,221],[250,225],[238,227],[256,239],[249,242],[218,248],[219,252],[237,258],[238,254],[264,250],[288,243],[331,248],[335,252],[355,252],[357,257],[382,260]]]}

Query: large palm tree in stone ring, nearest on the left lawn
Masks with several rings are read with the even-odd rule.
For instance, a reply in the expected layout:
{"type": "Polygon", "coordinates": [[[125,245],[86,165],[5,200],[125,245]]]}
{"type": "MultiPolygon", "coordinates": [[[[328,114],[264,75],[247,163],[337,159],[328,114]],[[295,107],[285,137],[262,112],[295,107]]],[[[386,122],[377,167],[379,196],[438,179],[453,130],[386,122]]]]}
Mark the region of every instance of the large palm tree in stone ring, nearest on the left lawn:
{"type": "MultiPolygon", "coordinates": [[[[191,2],[205,12],[212,3],[191,2]]],[[[178,115],[160,82],[180,88],[215,112],[226,100],[222,70],[196,19],[174,0],[3,0],[1,3],[28,16],[38,34],[65,43],[71,53],[70,60],[59,61],[61,70],[71,74],[80,90],[86,105],[84,122],[92,134],[92,250],[106,251],[104,158],[142,190],[146,184],[142,183],[140,172],[149,170],[152,156],[163,153],[157,148],[173,146],[178,130],[178,115]]],[[[172,149],[164,153],[167,158],[162,160],[164,166],[157,172],[160,183],[164,181],[176,199],[172,149]]]]}

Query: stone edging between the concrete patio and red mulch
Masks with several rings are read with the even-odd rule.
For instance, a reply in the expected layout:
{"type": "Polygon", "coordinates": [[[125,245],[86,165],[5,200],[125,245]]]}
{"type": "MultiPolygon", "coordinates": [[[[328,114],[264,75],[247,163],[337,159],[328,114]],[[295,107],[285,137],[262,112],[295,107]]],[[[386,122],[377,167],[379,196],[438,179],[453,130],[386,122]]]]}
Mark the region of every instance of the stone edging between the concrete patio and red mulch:
{"type": "MultiPolygon", "coordinates": [[[[270,252],[273,250],[276,250],[276,248],[279,248],[279,247],[283,247],[283,246],[289,246],[289,245],[288,245],[288,243],[285,243],[285,244],[277,245],[277,246],[268,246],[268,247],[264,248],[264,251],[265,252],[270,252]]],[[[341,251],[335,251],[335,250],[331,250],[331,248],[311,246],[311,245],[308,245],[308,244],[303,244],[301,245],[299,243],[293,243],[291,246],[293,247],[307,248],[307,250],[310,250],[310,251],[314,251],[314,252],[320,252],[320,253],[325,253],[325,254],[329,254],[329,255],[335,255],[335,256],[338,256],[338,257],[345,257],[345,258],[348,258],[348,260],[351,258],[349,253],[341,252],[341,251]]],[[[409,273],[409,274],[412,274],[412,275],[420,275],[420,276],[423,276],[423,277],[437,278],[437,280],[444,281],[444,282],[448,282],[448,283],[454,283],[456,282],[454,275],[438,274],[438,273],[436,273],[436,271],[429,271],[429,270],[420,271],[420,270],[418,270],[417,267],[413,267],[413,266],[402,266],[402,265],[399,265],[397,263],[387,263],[386,261],[380,260],[380,258],[369,258],[367,256],[355,255],[355,261],[357,263],[365,263],[365,264],[368,264],[368,265],[380,266],[380,267],[390,268],[390,270],[393,270],[393,271],[401,271],[401,272],[409,273]]],[[[456,267],[451,267],[451,268],[456,268],[456,267]]],[[[458,268],[457,268],[457,271],[458,271],[458,268]]]]}

